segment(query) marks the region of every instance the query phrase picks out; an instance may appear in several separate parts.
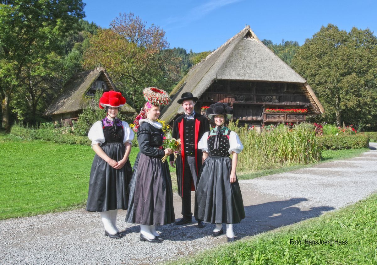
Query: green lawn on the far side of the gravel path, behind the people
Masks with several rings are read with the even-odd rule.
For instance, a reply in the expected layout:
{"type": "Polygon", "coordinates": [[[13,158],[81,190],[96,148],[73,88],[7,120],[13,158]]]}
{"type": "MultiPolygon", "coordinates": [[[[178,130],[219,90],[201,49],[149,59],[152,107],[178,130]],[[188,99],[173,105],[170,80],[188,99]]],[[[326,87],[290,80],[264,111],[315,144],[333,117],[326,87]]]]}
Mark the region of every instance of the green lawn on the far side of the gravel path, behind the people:
{"type": "MultiPolygon", "coordinates": [[[[323,161],[357,156],[369,149],[324,151],[323,161]]],[[[94,152],[90,146],[25,141],[0,133],[0,219],[32,216],[84,207],[94,152]]],[[[133,165],[138,153],[133,148],[133,165]]],[[[242,173],[250,179],[286,172],[303,165],[242,173]]],[[[175,169],[170,168],[173,191],[177,190],[175,169]]]]}

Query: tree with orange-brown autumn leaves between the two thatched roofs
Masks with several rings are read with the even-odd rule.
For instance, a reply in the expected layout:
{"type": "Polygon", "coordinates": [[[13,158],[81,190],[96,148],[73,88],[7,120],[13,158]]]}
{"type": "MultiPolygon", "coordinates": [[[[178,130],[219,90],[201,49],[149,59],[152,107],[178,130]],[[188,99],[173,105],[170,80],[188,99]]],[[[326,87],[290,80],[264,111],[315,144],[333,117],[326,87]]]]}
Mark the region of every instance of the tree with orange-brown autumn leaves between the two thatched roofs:
{"type": "Polygon", "coordinates": [[[93,69],[101,63],[111,73],[118,88],[126,93],[137,109],[144,104],[144,87],[158,86],[169,90],[179,79],[179,59],[173,57],[165,32],[132,13],[121,14],[99,29],[84,53],[84,67],[93,69]]]}

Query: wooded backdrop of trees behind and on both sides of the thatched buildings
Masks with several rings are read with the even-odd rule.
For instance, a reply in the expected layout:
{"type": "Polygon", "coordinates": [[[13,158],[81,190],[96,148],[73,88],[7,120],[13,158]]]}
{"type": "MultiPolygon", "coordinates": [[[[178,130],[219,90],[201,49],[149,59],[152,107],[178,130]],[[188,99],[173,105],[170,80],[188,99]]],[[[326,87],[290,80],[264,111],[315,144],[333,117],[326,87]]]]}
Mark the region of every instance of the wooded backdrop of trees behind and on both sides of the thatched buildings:
{"type": "MultiPolygon", "coordinates": [[[[2,127],[46,121],[43,112],[77,72],[104,66],[127,103],[143,104],[144,87],[168,92],[190,67],[212,51],[170,47],[164,29],[132,13],[109,28],[84,20],[84,3],[53,0],[1,1],[0,97],[2,127]],[[25,19],[25,18],[28,19],[25,19]]],[[[148,21],[153,22],[153,21],[148,21]]],[[[300,46],[297,41],[262,41],[305,78],[325,113],[312,121],[377,129],[377,39],[369,29],[346,32],[322,26],[300,46]]]]}

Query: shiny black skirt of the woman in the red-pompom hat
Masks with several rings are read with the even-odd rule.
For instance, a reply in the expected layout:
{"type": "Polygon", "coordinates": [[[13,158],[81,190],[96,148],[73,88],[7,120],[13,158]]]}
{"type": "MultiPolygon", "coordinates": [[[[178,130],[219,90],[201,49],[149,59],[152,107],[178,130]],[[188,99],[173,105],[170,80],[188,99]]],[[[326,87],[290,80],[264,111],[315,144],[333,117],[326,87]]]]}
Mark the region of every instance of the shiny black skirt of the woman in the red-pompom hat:
{"type": "MultiPolygon", "coordinates": [[[[115,161],[120,161],[126,150],[121,142],[106,143],[103,151],[115,161]]],[[[97,154],[94,156],[90,170],[87,211],[109,211],[128,206],[127,188],[132,176],[130,160],[121,169],[111,167],[97,154]]]]}

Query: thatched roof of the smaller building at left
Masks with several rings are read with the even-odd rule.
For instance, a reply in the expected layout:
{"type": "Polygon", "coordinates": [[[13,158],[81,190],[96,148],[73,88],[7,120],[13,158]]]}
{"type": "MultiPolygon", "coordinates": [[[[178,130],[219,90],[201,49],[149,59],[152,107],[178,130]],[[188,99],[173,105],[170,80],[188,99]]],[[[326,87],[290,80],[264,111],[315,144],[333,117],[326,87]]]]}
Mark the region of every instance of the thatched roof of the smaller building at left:
{"type": "MultiPolygon", "coordinates": [[[[102,75],[110,90],[118,91],[111,81],[109,74],[103,67],[95,70],[75,74],[64,84],[61,94],[51,103],[43,115],[55,115],[60,113],[75,112],[84,109],[93,98],[85,97],[93,82],[102,75]]],[[[129,104],[122,107],[122,112],[135,112],[129,104]]]]}

